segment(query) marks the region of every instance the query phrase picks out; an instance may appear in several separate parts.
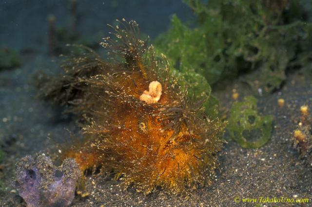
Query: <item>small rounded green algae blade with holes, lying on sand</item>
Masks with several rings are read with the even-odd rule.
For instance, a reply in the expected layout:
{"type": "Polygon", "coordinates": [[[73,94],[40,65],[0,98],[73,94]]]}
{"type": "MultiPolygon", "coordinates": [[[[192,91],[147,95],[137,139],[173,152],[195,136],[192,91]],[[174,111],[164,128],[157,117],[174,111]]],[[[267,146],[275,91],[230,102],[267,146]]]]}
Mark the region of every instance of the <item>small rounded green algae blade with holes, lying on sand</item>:
{"type": "Polygon", "coordinates": [[[258,115],[257,100],[253,96],[234,103],[228,121],[230,137],[244,148],[261,147],[271,138],[272,117],[258,115]]]}

